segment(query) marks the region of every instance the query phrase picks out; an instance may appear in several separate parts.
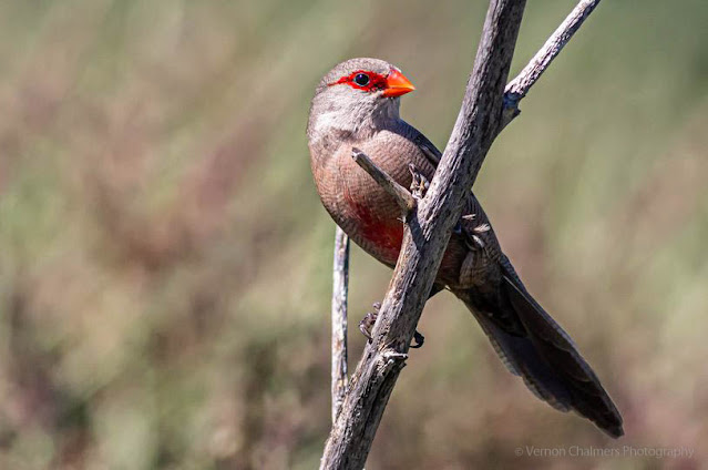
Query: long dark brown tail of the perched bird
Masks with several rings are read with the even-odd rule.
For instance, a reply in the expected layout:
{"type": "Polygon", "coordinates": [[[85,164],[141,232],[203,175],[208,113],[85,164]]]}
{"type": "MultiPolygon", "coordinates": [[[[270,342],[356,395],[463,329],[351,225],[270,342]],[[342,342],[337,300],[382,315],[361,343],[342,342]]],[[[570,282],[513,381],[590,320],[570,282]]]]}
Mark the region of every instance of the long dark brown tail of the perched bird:
{"type": "Polygon", "coordinates": [[[558,410],[577,411],[613,438],[624,433],[622,416],[593,369],[515,273],[502,277],[495,299],[474,290],[455,294],[509,370],[521,376],[534,395],[558,410]]]}

